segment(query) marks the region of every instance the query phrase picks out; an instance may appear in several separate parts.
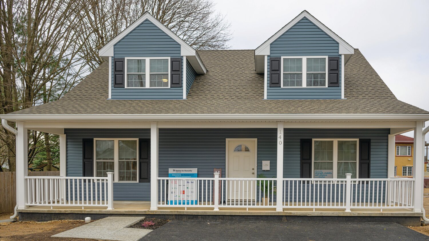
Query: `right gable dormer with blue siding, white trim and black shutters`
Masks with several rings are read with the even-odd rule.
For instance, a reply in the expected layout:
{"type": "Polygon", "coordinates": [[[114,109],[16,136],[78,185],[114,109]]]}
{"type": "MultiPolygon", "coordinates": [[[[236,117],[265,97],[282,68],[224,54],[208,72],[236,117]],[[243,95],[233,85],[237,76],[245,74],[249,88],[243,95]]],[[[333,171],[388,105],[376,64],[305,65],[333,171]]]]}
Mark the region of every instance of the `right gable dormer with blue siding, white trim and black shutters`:
{"type": "Polygon", "coordinates": [[[265,99],[344,98],[344,63],[354,48],[303,11],[255,50],[265,99]]]}

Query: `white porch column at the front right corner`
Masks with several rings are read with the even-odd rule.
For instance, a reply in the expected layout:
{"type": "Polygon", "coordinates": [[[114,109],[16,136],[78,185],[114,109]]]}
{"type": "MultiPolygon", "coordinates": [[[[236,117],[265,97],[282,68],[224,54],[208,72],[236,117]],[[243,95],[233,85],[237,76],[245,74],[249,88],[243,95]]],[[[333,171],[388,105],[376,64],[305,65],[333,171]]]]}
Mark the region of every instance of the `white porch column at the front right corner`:
{"type": "Polygon", "coordinates": [[[414,209],[415,212],[421,212],[423,203],[423,126],[424,122],[416,122],[414,128],[414,152],[413,152],[413,171],[414,171],[414,209]]]}

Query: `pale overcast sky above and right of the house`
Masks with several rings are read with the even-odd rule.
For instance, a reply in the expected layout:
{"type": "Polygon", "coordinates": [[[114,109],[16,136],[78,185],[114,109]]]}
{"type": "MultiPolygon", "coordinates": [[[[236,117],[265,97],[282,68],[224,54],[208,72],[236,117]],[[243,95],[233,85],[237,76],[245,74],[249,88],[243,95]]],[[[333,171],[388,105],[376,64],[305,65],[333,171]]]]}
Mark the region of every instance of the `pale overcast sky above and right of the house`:
{"type": "Polygon", "coordinates": [[[429,0],[214,2],[232,25],[232,49],[257,48],[307,10],[354,48],[359,48],[396,98],[429,110],[429,0]]]}

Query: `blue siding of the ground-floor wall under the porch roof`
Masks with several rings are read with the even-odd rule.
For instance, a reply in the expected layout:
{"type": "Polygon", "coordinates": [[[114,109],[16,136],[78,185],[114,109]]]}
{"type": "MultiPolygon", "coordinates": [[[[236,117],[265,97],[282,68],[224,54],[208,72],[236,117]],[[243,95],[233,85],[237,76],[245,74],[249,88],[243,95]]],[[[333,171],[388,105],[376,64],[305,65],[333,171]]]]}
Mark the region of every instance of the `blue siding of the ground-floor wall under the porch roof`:
{"type": "MultiPolygon", "coordinates": [[[[225,177],[226,138],[257,138],[257,174],[275,177],[277,172],[277,129],[160,129],[159,176],[168,169],[198,168],[198,177],[213,177],[222,168],[225,177]],[[262,161],[270,170],[262,171],[262,161]]],[[[83,138],[150,138],[149,129],[65,129],[67,176],[82,176],[83,138]]],[[[388,129],[284,129],[284,177],[300,176],[300,139],[371,139],[371,177],[387,178],[388,129]]],[[[150,183],[114,183],[114,199],[148,201],[150,183]]]]}

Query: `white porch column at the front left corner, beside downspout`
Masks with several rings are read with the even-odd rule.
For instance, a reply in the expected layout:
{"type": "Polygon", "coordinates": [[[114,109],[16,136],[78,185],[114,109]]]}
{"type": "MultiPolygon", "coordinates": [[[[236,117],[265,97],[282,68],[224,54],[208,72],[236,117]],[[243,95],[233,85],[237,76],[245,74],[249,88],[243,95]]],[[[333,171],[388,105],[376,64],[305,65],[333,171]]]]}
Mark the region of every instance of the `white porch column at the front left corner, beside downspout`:
{"type": "Polygon", "coordinates": [[[18,134],[16,135],[16,200],[18,208],[28,208],[27,181],[28,176],[28,129],[23,122],[16,122],[18,134]]]}

